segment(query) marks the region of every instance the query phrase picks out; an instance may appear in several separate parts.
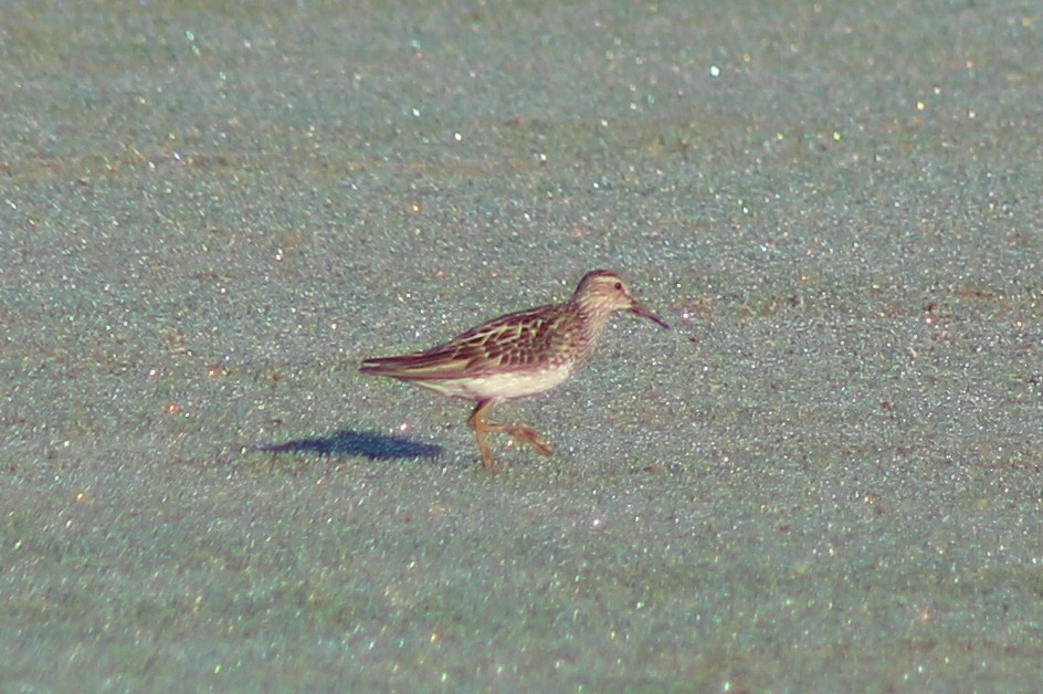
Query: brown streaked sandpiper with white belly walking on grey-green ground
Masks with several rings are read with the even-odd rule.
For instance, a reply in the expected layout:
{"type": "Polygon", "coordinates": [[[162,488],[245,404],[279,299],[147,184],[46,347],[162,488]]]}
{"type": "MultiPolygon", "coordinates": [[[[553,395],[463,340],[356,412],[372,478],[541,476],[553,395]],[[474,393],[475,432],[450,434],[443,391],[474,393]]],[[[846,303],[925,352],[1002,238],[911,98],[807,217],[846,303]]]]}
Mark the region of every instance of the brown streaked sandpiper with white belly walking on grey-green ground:
{"type": "Polygon", "coordinates": [[[670,327],[630,295],[619,275],[594,270],[563,304],[509,313],[425,351],[367,359],[359,370],[474,400],[467,424],[478,440],[482,464],[496,470],[485,440],[491,431],[509,434],[542,455],[550,455],[554,449],[540,441],[535,430],[486,422],[486,414],[499,402],[535,396],[565,382],[590,354],[609,316],[618,311],[670,327]]]}

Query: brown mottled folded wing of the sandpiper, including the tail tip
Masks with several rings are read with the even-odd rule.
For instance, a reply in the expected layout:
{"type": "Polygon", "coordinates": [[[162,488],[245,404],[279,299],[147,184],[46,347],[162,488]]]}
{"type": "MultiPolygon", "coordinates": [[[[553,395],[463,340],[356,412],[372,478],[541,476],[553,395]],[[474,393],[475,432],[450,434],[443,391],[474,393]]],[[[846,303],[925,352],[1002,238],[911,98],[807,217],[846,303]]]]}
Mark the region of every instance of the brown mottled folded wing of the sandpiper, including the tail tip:
{"type": "Polygon", "coordinates": [[[402,380],[436,380],[503,374],[552,361],[579,335],[580,324],[559,306],[540,306],[494,318],[425,351],[367,359],[362,371],[402,380]]]}

